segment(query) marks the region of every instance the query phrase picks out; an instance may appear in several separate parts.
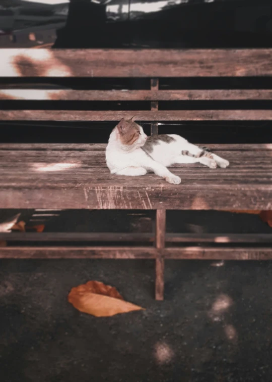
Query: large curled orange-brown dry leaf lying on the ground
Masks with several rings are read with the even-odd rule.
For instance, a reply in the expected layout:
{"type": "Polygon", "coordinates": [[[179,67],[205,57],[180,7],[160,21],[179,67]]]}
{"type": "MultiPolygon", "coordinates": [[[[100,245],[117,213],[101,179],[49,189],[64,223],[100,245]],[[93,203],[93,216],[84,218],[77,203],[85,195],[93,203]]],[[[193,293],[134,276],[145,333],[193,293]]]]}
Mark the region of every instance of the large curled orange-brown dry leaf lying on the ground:
{"type": "Polygon", "coordinates": [[[140,306],[124,301],[116,288],[99,281],[88,281],[86,284],[72,288],[68,301],[80,312],[96,317],[109,317],[133,310],[144,310],[140,306]]]}

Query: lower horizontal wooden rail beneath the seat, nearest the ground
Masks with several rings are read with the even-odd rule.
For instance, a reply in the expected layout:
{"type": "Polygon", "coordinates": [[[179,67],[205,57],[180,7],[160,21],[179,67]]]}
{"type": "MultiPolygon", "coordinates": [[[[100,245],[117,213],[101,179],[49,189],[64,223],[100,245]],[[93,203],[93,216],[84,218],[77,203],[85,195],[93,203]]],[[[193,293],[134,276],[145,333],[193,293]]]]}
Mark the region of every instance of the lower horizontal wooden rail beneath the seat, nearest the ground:
{"type": "MultiPolygon", "coordinates": [[[[4,259],[155,259],[157,249],[152,247],[0,247],[4,259]]],[[[271,260],[269,247],[186,247],[166,248],[164,259],[199,260],[271,260]]]]}

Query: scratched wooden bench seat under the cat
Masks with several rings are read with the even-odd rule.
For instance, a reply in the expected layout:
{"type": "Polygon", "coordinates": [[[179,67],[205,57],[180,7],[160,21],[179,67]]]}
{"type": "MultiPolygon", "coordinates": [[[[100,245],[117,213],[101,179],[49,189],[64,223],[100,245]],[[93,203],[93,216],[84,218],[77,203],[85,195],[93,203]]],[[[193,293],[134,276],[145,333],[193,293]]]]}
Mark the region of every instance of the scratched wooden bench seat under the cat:
{"type": "Polygon", "coordinates": [[[173,185],[111,175],[105,145],[1,144],[0,208],[271,209],[272,145],[210,147],[230,166],[176,165],[173,185]]]}

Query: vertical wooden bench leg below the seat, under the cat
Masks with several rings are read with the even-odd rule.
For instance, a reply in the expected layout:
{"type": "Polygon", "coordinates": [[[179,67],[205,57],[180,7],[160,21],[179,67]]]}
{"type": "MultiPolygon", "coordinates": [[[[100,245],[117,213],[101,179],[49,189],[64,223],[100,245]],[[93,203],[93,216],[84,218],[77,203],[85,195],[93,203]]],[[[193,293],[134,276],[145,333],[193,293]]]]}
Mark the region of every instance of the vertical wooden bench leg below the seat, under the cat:
{"type": "Polygon", "coordinates": [[[156,300],[163,300],[164,295],[164,258],[163,250],[165,248],[165,228],[166,228],[166,210],[156,211],[156,248],[158,250],[156,258],[156,300]]]}

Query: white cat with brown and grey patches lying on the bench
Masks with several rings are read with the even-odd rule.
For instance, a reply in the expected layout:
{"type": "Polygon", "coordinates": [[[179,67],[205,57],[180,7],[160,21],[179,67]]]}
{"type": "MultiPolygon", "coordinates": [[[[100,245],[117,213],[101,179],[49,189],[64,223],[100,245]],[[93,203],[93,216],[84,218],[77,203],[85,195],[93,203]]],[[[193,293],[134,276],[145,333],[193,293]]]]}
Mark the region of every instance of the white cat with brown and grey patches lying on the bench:
{"type": "Polygon", "coordinates": [[[140,176],[148,171],[179,184],[181,179],[168,170],[174,164],[202,163],[210,168],[226,168],[229,162],[205,149],[190,144],[176,134],[147,136],[134,117],[124,118],[112,130],[106,148],[111,174],[140,176]]]}

